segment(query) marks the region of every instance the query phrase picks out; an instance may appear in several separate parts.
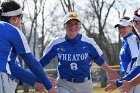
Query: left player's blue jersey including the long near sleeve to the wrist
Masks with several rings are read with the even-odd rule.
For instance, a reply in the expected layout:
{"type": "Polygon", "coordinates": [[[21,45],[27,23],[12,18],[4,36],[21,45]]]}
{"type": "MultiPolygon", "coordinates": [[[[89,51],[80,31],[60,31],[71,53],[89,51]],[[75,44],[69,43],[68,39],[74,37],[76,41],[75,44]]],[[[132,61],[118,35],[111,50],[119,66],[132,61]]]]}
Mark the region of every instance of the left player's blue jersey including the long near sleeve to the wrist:
{"type": "Polygon", "coordinates": [[[16,73],[20,68],[14,69],[14,66],[17,65],[15,63],[17,54],[19,54],[29,69],[44,84],[45,88],[48,90],[52,88],[52,84],[43,71],[41,64],[33,57],[22,31],[7,22],[0,21],[0,47],[0,72],[11,74],[13,69],[14,73],[12,75],[18,79],[24,79],[23,76],[16,73]],[[10,68],[9,66],[13,67],[10,68]]]}

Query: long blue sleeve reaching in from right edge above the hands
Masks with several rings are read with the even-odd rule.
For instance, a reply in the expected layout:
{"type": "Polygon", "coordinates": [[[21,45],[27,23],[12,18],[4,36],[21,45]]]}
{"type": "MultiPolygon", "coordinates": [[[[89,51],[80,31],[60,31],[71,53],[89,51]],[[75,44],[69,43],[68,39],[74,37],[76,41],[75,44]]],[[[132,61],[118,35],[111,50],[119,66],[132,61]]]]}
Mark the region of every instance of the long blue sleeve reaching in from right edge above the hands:
{"type": "Polygon", "coordinates": [[[129,81],[129,80],[133,79],[135,76],[137,76],[139,73],[140,73],[140,66],[137,66],[132,71],[130,71],[128,74],[126,74],[124,77],[117,79],[117,81],[116,81],[117,87],[120,87],[122,85],[121,81],[123,81],[123,80],[129,81]]]}

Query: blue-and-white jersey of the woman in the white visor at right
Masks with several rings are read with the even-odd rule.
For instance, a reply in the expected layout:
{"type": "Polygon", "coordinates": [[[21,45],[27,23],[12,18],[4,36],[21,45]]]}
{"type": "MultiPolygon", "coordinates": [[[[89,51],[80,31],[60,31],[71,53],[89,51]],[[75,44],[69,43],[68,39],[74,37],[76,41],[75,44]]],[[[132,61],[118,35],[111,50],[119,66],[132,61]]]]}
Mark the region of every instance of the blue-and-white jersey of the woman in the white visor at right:
{"type": "Polygon", "coordinates": [[[137,37],[130,33],[126,37],[123,38],[123,44],[120,51],[120,69],[121,72],[129,72],[133,65],[133,59],[137,58],[139,53],[139,44],[137,41],[137,37]]]}

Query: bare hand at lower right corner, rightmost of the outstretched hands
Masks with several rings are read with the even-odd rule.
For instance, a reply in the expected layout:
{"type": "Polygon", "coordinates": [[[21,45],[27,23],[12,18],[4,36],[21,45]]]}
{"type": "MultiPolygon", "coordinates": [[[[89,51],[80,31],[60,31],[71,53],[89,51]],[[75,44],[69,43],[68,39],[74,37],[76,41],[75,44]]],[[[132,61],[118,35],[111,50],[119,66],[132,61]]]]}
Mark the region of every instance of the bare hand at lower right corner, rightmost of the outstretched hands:
{"type": "Polygon", "coordinates": [[[120,93],[128,93],[133,88],[131,82],[129,81],[124,80],[122,81],[122,84],[123,85],[119,87],[119,89],[121,90],[120,93]]]}

